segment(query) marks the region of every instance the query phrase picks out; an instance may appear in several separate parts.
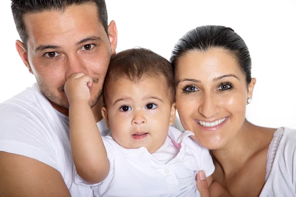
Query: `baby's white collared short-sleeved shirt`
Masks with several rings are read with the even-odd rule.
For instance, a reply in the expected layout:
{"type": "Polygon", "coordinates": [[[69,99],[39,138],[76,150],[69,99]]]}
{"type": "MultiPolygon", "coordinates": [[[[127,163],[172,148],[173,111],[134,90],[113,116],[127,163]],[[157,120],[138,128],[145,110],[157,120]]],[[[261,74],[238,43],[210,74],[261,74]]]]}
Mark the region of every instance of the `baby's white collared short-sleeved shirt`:
{"type": "MultiPolygon", "coordinates": [[[[198,145],[190,131],[170,127],[165,143],[150,154],[145,147],[126,149],[111,135],[103,138],[110,171],[93,184],[95,197],[200,197],[195,176],[204,170],[210,176],[215,166],[209,150],[198,145]]],[[[76,173],[75,182],[88,185],[76,173]]]]}

